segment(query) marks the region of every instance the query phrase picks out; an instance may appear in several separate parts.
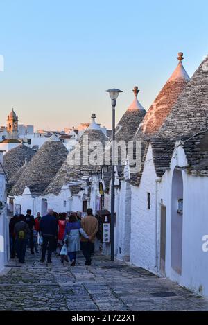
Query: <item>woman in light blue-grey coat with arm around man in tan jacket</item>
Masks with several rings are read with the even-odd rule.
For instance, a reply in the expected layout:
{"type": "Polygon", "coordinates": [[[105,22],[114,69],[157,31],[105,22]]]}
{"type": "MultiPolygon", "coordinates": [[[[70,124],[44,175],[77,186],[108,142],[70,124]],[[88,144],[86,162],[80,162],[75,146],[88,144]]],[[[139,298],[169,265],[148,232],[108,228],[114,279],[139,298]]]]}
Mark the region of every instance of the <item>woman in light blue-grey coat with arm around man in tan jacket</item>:
{"type": "Polygon", "coordinates": [[[64,233],[64,243],[67,245],[67,252],[71,261],[71,266],[76,264],[76,252],[80,251],[80,234],[86,239],[90,239],[80,226],[80,221],[76,216],[69,216],[64,233]]]}

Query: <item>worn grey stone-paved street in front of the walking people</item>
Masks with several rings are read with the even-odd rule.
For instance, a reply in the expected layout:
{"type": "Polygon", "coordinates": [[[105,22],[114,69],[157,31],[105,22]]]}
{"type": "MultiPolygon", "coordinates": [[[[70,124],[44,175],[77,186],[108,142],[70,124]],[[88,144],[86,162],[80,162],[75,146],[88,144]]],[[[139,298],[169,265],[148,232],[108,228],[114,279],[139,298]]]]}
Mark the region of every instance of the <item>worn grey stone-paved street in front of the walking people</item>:
{"type": "MultiPolygon", "coordinates": [[[[78,255],[76,267],[12,261],[0,276],[0,310],[208,310],[208,300],[120,261],[96,255],[91,267],[78,255]]],[[[67,264],[67,263],[66,263],[67,264]]]]}

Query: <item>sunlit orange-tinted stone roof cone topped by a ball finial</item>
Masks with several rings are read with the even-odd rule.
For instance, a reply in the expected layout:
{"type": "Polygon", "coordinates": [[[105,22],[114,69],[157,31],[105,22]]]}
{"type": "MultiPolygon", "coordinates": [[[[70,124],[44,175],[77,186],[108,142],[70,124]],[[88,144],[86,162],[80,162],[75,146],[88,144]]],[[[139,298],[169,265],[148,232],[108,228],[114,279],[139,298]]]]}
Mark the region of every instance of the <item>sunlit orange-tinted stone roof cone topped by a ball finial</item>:
{"type": "Polygon", "coordinates": [[[138,134],[136,137],[138,139],[141,139],[141,137],[146,139],[155,137],[162,123],[164,123],[167,116],[171,113],[173,106],[177,102],[177,98],[179,98],[184,87],[189,82],[190,78],[182,64],[183,59],[183,53],[178,53],[177,60],[179,60],[179,63],[148,109],[141,128],[137,130],[138,134]]]}

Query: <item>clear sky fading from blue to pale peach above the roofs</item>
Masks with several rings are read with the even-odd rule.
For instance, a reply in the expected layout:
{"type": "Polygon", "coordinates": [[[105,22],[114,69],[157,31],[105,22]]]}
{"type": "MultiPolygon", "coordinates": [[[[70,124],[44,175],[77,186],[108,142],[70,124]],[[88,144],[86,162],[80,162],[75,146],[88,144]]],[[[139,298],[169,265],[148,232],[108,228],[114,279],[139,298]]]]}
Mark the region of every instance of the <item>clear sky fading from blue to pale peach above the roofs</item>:
{"type": "Polygon", "coordinates": [[[0,0],[0,124],[14,107],[20,123],[62,129],[110,127],[106,89],[123,90],[116,121],[141,89],[145,109],[183,51],[192,76],[208,53],[207,0],[0,0]]]}

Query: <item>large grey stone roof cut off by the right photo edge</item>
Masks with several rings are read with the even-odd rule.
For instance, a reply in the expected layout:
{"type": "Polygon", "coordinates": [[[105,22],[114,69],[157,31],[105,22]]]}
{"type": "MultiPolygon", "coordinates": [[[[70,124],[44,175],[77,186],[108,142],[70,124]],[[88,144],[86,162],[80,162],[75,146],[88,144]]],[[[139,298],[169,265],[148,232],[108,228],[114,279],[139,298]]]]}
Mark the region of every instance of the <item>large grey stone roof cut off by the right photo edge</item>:
{"type": "Polygon", "coordinates": [[[158,137],[189,137],[203,128],[208,128],[208,57],[182,91],[158,137]]]}

